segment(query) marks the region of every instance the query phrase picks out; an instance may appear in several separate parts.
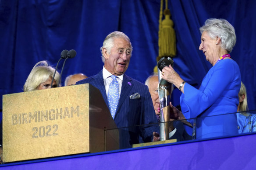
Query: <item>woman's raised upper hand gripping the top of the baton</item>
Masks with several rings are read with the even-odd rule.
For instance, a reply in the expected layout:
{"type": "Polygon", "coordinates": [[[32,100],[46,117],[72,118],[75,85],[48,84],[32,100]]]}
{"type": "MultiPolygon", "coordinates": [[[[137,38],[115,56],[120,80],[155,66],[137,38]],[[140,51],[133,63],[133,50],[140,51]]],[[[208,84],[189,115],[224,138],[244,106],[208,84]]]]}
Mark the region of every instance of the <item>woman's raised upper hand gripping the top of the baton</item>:
{"type": "Polygon", "coordinates": [[[162,69],[162,79],[168,81],[169,83],[173,83],[177,88],[179,88],[180,84],[183,82],[181,77],[176,71],[174,71],[171,65],[162,69]]]}

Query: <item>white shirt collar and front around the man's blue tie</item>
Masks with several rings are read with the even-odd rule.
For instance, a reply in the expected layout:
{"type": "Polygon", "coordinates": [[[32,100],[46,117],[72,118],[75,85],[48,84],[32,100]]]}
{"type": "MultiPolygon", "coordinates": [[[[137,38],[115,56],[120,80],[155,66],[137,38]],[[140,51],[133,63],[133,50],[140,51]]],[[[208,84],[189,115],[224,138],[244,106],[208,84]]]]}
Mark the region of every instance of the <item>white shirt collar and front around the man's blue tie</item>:
{"type": "MultiPolygon", "coordinates": [[[[110,76],[112,76],[113,74],[111,74],[109,71],[107,71],[107,69],[105,69],[104,66],[103,66],[102,74],[103,74],[103,80],[104,80],[104,85],[105,85],[106,94],[107,94],[109,85],[113,81],[113,79],[110,76]]],[[[120,98],[120,94],[121,94],[123,78],[124,78],[124,74],[122,74],[121,76],[117,76],[117,82],[118,82],[118,87],[119,87],[119,98],[120,98]]]]}

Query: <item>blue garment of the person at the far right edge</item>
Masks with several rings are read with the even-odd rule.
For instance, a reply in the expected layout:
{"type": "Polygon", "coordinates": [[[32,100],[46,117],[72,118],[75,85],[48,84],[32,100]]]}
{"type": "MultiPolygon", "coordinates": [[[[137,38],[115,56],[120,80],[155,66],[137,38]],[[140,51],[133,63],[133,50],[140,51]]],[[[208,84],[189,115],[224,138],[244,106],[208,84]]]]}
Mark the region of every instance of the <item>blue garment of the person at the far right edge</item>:
{"type": "Polygon", "coordinates": [[[246,113],[243,115],[237,113],[238,132],[239,133],[250,133],[256,132],[256,114],[246,113]]]}

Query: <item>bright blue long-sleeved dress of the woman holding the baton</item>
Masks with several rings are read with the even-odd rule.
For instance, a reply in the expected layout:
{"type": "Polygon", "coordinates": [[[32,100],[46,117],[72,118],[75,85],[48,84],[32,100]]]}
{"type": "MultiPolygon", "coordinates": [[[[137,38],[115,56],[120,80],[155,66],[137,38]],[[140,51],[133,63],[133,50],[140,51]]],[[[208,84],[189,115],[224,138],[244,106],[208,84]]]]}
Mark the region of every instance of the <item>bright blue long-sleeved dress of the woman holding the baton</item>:
{"type": "MultiPolygon", "coordinates": [[[[199,89],[185,83],[180,97],[181,110],[185,118],[196,118],[196,139],[238,134],[235,113],[240,86],[240,70],[231,59],[217,62],[199,89]]],[[[188,121],[193,125],[193,119],[188,121]]]]}

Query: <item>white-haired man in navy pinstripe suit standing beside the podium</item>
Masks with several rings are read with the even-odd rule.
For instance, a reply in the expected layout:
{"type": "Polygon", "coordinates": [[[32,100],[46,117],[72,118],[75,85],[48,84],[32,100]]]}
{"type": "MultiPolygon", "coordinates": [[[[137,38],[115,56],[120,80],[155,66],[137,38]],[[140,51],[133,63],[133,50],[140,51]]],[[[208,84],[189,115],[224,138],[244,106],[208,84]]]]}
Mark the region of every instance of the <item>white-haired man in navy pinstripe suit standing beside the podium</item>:
{"type": "Polygon", "coordinates": [[[145,142],[158,141],[159,128],[157,124],[153,124],[157,123],[157,119],[148,87],[124,74],[132,56],[130,39],[122,32],[112,32],[107,35],[100,50],[104,62],[103,69],[76,84],[90,83],[98,88],[110,109],[107,98],[110,83],[113,81],[110,76],[117,76],[119,101],[114,121],[120,128],[120,149],[139,143],[139,135],[145,142]]]}

